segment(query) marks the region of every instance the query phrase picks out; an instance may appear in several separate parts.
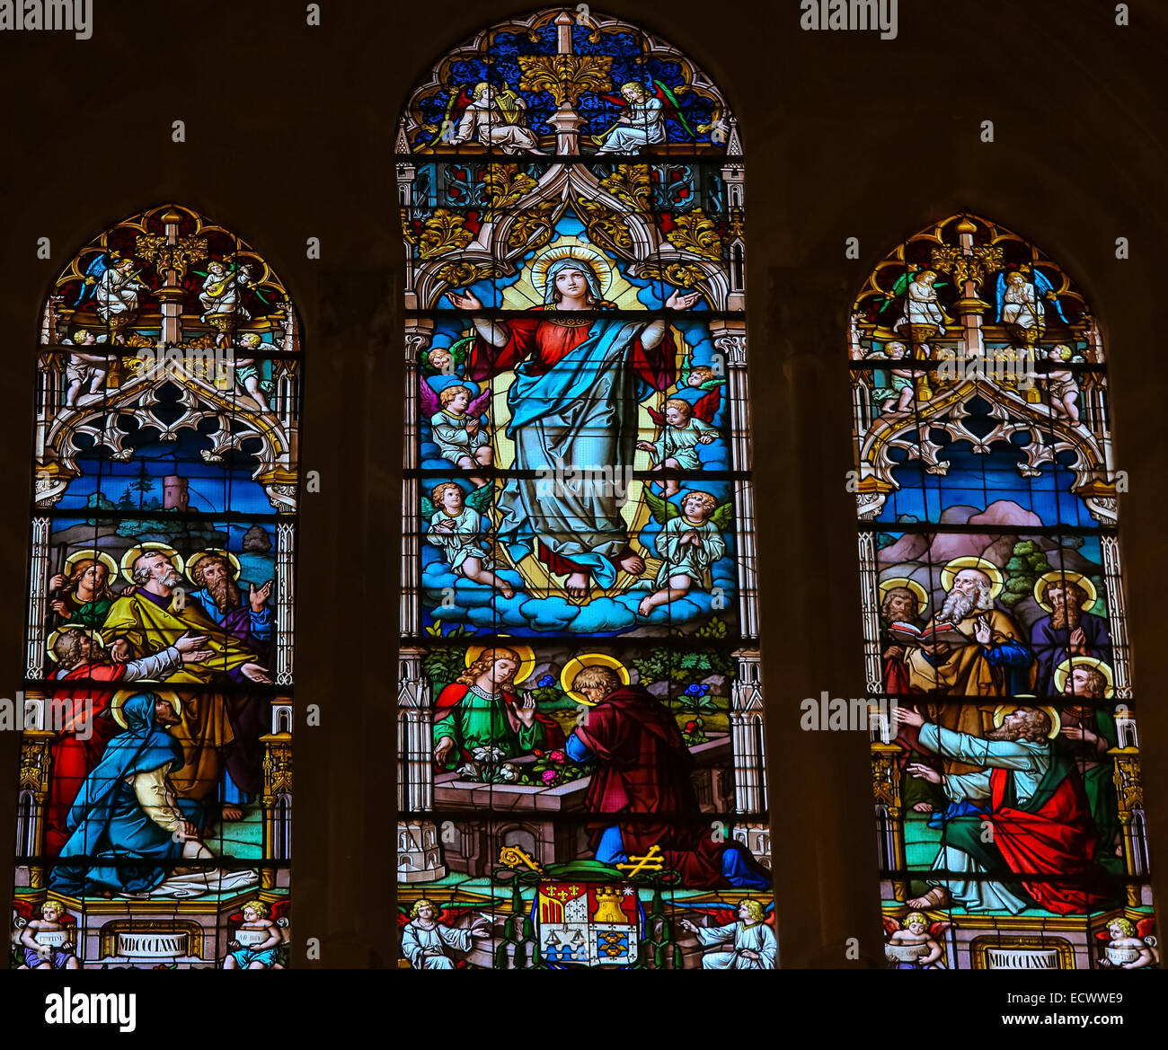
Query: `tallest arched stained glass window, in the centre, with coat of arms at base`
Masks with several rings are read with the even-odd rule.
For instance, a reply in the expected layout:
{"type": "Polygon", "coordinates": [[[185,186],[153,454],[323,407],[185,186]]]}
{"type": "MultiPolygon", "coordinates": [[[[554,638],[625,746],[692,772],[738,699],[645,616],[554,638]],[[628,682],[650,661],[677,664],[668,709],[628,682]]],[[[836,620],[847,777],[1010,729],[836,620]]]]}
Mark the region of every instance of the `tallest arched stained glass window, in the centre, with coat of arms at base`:
{"type": "Polygon", "coordinates": [[[397,153],[403,955],[771,968],[730,107],[557,8],[443,57],[397,153]]]}

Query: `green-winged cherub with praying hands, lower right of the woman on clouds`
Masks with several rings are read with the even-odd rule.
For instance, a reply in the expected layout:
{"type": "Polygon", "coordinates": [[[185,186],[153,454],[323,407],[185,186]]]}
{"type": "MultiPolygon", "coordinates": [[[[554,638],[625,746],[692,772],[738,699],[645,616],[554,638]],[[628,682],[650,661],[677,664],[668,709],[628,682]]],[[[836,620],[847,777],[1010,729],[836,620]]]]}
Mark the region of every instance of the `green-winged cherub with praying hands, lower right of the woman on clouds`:
{"type": "Polygon", "coordinates": [[[652,594],[647,594],[637,612],[647,617],[659,605],[676,602],[696,583],[707,591],[712,586],[710,565],[726,552],[723,529],[729,528],[734,507],[718,505],[708,492],[688,491],[679,510],[673,503],[645,491],[653,517],[665,528],[654,538],[658,554],[665,558],[658,571],[652,594]]]}

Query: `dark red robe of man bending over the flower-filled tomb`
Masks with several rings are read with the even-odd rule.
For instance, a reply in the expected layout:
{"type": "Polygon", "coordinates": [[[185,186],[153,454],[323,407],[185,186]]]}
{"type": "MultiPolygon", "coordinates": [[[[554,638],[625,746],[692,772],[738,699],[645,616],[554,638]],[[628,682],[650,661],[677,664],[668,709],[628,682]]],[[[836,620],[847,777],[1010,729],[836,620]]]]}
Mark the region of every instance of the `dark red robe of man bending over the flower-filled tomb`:
{"type": "Polygon", "coordinates": [[[656,844],[683,885],[722,885],[722,846],[702,818],[693,759],[668,709],[644,687],[624,686],[591,708],[575,733],[596,756],[584,808],[612,814],[589,823],[592,849],[605,828],[619,823],[630,856],[644,856],[656,844]],[[625,821],[625,814],[660,819],[625,821]]]}

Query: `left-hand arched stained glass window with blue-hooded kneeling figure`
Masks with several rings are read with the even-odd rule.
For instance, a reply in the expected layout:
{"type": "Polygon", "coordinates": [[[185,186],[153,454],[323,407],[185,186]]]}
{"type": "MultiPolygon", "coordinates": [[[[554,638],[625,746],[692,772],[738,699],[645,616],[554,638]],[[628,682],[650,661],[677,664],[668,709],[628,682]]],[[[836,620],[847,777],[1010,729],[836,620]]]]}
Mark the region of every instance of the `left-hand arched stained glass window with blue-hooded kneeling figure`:
{"type": "Polygon", "coordinates": [[[279,277],[178,204],[49,292],[16,967],[287,962],[299,357],[279,277]]]}

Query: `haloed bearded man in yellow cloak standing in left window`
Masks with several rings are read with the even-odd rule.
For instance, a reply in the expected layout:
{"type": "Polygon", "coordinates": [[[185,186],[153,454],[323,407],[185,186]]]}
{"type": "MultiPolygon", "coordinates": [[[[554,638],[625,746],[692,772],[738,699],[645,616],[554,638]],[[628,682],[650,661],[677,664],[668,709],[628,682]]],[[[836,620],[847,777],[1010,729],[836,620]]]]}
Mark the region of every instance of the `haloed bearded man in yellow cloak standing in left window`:
{"type": "Polygon", "coordinates": [[[183,765],[171,773],[174,791],[194,802],[209,800],[218,786],[221,749],[234,739],[231,718],[248,697],[208,689],[225,681],[270,683],[257,654],[227,633],[181,590],[181,557],[165,543],[141,543],[126,551],[121,570],[134,584],[132,593],[110,609],[102,637],[114,662],[139,659],[173,646],[186,633],[206,635],[213,655],[202,663],[183,665],[166,677],[171,686],[201,687],[182,695],[180,722],[172,735],[182,745],[183,765]],[[175,563],[179,563],[176,568],[175,563]]]}

